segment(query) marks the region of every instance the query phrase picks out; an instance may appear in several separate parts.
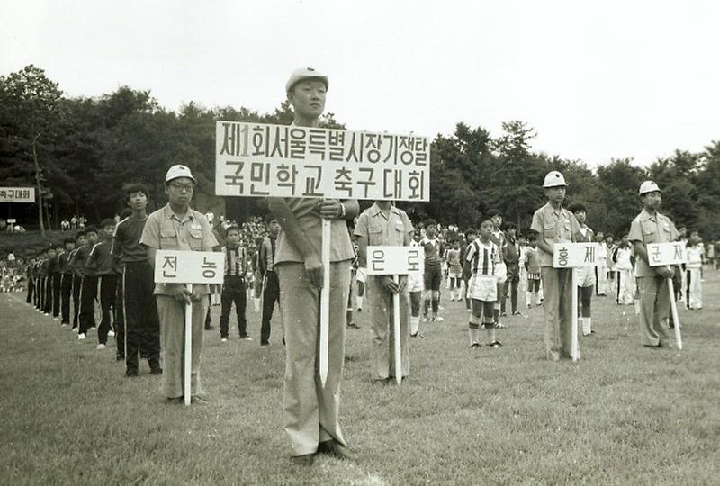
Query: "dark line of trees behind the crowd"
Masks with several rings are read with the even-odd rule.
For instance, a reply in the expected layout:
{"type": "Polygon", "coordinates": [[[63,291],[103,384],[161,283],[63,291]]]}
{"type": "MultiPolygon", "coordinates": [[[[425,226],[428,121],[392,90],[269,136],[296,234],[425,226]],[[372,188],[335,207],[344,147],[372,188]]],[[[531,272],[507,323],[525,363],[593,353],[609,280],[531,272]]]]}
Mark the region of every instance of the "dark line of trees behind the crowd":
{"type": "MultiPolygon", "coordinates": [[[[163,177],[174,164],[190,166],[198,179],[193,197],[199,210],[224,211],[236,220],[263,212],[262,200],[213,194],[219,120],[289,124],[293,112],[285,102],[272,113],[193,102],[174,112],[149,91],[127,86],[95,98],[68,97],[39,67],[0,76],[0,180],[39,193],[31,206],[0,203],[0,217],[12,211],[40,229],[57,228],[72,214],[99,221],[121,211],[123,184],[136,181],[148,184],[151,207],[159,207],[166,202],[163,177]]],[[[322,125],[346,128],[333,113],[322,125]]],[[[647,167],[621,158],[592,169],[581,160],[536,152],[536,135],[524,121],[503,123],[496,138],[458,123],[455,133],[432,142],[430,202],[400,205],[415,220],[432,217],[461,228],[497,208],[524,229],[545,203],[543,177],[560,170],[568,201],[588,207],[590,227],[617,235],[641,209],[639,185],[653,179],[663,190],[662,211],[705,238],[720,237],[720,140],[698,153],[678,149],[647,167]]]]}

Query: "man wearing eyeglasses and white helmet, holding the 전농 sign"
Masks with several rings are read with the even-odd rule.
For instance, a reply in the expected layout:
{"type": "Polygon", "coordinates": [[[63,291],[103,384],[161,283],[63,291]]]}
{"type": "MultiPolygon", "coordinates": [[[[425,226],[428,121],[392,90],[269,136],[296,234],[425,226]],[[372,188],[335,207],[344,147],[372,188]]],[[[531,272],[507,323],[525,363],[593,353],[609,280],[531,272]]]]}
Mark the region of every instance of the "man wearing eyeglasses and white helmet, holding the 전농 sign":
{"type": "MultiPolygon", "coordinates": [[[[186,166],[172,166],[165,177],[167,204],[148,216],[140,244],[148,249],[148,262],[155,267],[155,252],[163,250],[212,251],[218,245],[208,220],[190,207],[195,178],[186,166]]],[[[193,302],[193,349],[190,387],[193,403],[204,403],[200,381],[200,353],[210,288],[184,284],[155,284],[157,317],[163,354],[162,391],[168,403],[183,403],[184,309],[193,302]]]]}

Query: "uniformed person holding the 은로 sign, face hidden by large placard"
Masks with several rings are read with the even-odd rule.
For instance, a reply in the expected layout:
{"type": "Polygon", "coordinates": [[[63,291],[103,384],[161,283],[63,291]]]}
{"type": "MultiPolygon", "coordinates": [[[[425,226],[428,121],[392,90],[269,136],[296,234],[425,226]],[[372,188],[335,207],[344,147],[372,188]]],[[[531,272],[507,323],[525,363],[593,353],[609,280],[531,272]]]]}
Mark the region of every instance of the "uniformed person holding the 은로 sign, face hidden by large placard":
{"type": "MultiPolygon", "coordinates": [[[[376,201],[363,211],[357,219],[355,234],[360,254],[360,266],[368,270],[367,295],[370,308],[370,326],[373,330],[373,348],[371,352],[371,379],[386,382],[394,376],[395,364],[392,349],[395,336],[392,332],[393,294],[400,295],[400,343],[401,343],[401,379],[410,374],[410,347],[408,346],[408,272],[405,269],[399,282],[395,283],[392,275],[373,275],[371,260],[367,255],[367,247],[410,245],[412,223],[401,209],[392,206],[390,201],[376,201]]],[[[418,249],[419,251],[419,249],[418,249]]]]}

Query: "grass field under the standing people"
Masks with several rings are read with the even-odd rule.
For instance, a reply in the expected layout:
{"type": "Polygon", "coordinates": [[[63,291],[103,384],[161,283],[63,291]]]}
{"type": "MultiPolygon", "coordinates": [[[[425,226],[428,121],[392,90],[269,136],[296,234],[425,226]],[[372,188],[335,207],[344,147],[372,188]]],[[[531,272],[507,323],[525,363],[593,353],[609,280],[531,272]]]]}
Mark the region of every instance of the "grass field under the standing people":
{"type": "Polygon", "coordinates": [[[680,311],[680,353],[641,347],[633,307],[608,297],[580,363],[545,361],[541,309],[504,320],[504,347],[471,350],[464,305],[443,302],[397,387],[370,383],[361,319],[341,411],[356,461],[305,469],[288,459],[277,320],[267,349],[252,306],[252,343],[206,332],[210,403],[185,408],[163,403],[147,364],[124,378],[112,347],[78,342],[23,297],[0,294],[3,484],[720,482],[720,272],[706,271],[703,311],[680,311]]]}

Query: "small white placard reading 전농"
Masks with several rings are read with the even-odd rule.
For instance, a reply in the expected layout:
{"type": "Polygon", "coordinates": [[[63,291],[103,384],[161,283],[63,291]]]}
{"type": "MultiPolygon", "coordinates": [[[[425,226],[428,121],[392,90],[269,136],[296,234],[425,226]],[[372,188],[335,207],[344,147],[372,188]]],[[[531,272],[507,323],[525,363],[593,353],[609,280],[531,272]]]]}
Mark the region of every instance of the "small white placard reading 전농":
{"type": "Polygon", "coordinates": [[[222,284],[225,254],[213,251],[157,250],[155,282],[222,284]]]}

